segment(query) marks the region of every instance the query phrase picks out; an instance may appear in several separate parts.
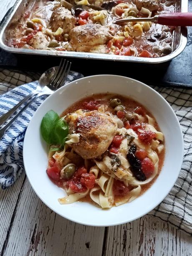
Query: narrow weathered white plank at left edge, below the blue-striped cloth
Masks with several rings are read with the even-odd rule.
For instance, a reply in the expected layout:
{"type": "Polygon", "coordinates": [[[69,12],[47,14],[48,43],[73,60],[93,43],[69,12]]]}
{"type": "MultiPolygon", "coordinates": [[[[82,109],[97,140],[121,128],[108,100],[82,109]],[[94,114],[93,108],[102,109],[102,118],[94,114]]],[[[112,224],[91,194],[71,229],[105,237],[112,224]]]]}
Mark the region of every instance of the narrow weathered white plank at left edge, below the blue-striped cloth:
{"type": "Polygon", "coordinates": [[[0,190],[0,253],[7,242],[8,231],[17,210],[18,198],[24,182],[23,173],[15,185],[8,190],[0,190]]]}

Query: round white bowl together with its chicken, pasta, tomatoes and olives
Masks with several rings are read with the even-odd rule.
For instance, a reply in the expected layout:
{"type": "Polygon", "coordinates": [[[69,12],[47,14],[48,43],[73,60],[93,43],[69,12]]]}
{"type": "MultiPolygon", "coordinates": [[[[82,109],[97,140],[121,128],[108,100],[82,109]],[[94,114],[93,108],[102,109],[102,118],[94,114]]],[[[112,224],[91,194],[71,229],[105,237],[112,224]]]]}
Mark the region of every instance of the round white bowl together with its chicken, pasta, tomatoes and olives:
{"type": "Polygon", "coordinates": [[[182,154],[169,104],[139,81],[111,75],[79,79],[48,97],[24,141],[25,170],[41,200],[93,226],[125,223],[152,210],[174,185],[182,154]],[[43,132],[46,118],[55,122],[50,137],[43,132]]]}

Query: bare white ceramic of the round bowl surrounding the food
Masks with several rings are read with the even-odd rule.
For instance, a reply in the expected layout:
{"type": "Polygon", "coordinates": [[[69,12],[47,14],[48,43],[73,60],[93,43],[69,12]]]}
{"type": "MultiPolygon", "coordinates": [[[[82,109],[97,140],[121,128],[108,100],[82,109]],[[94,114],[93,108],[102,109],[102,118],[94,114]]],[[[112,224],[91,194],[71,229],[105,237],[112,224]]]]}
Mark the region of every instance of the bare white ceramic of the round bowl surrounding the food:
{"type": "Polygon", "coordinates": [[[89,76],[73,81],[49,96],[35,112],[25,134],[23,159],[25,171],[38,197],[59,215],[90,226],[112,226],[133,221],[155,208],[173,187],[182,165],[183,137],[174,111],[167,101],[149,86],[123,76],[89,76]],[[143,104],[156,118],[165,137],[165,160],[159,177],[143,195],[131,203],[102,210],[91,203],[60,205],[65,192],[46,174],[47,145],[40,136],[40,122],[50,109],[61,114],[85,96],[97,93],[129,96],[143,104]]]}

